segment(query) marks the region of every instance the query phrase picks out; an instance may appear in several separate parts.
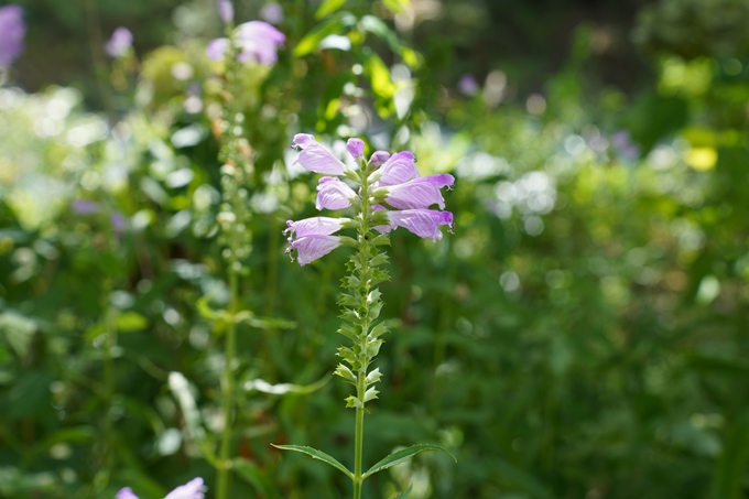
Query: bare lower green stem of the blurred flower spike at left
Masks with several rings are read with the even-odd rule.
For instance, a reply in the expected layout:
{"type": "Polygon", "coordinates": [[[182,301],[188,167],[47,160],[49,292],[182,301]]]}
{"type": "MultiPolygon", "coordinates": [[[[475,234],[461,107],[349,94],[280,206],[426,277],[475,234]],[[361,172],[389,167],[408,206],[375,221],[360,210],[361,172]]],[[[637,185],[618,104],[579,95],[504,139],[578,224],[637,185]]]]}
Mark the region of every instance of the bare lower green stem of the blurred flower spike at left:
{"type": "Polygon", "coordinates": [[[237,313],[237,271],[234,261],[229,262],[229,322],[226,332],[226,352],[224,367],[224,433],[221,434],[221,447],[219,449],[218,480],[216,498],[226,499],[229,492],[229,447],[231,446],[231,409],[234,399],[234,372],[232,364],[237,349],[237,324],[234,316],[237,313]]]}

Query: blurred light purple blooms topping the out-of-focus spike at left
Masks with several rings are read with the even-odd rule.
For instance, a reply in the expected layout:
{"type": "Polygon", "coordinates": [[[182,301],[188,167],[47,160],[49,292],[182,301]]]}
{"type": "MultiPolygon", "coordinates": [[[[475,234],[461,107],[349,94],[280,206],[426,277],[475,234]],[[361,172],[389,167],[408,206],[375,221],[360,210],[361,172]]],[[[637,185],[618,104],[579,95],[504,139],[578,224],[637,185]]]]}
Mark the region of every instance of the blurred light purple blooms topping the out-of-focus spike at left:
{"type": "MultiPolygon", "coordinates": [[[[253,59],[260,64],[273,64],[278,59],[278,45],[286,41],[279,30],[263,21],[240,24],[235,31],[235,44],[239,51],[239,62],[253,59]]],[[[211,61],[224,61],[229,51],[229,39],[216,39],[208,44],[206,55],[211,61]]]]}

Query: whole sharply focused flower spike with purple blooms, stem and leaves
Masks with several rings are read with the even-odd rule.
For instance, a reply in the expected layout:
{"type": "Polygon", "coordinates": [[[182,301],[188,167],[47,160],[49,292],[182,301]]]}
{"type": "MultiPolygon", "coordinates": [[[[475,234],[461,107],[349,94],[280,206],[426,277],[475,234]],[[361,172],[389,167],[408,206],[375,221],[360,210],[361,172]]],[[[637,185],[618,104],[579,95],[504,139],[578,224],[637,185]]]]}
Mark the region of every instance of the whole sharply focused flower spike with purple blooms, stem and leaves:
{"type": "MultiPolygon", "coordinates": [[[[439,227],[452,230],[453,214],[428,209],[432,205],[445,207],[441,188],[454,184],[452,175],[438,174],[422,177],[415,166],[415,158],[409,151],[390,156],[378,151],[367,161],[362,153],[365,144],[359,139],[348,141],[348,151],[358,163],[349,169],[345,163],[312,135],[297,134],[294,145],[302,151],[297,162],[305,169],[324,176],[317,186],[317,209],[352,208],[352,218],[313,217],[287,221],[289,249],[296,251],[301,265],[321,258],[339,246],[356,249],[347,263],[348,274],[343,279],[344,292],[338,301],[341,307],[341,325],[338,333],[350,339],[350,345],[338,348],[341,362],[335,375],[354,386],[354,394],[346,398],[346,406],[356,411],[354,471],[329,455],[311,447],[281,445],[280,448],[308,454],[324,460],[346,474],[352,481],[354,499],[361,499],[363,481],[377,471],[408,459],[423,451],[447,451],[434,445],[414,445],[386,457],[368,471],[363,471],[365,409],[368,402],[380,393],[376,384],[382,375],[379,368],[370,369],[382,346],[381,336],[388,333],[379,319],[383,302],[377,288],[389,279],[381,265],[388,256],[381,247],[390,245],[388,232],[403,227],[406,230],[433,240],[442,238],[439,227]],[[354,184],[341,181],[340,177],[354,184]],[[395,209],[393,209],[395,208],[395,209]],[[343,229],[355,229],[356,238],[334,236],[343,229]]],[[[292,257],[293,258],[293,257],[292,257]]],[[[400,497],[408,497],[409,491],[400,497]]]]}

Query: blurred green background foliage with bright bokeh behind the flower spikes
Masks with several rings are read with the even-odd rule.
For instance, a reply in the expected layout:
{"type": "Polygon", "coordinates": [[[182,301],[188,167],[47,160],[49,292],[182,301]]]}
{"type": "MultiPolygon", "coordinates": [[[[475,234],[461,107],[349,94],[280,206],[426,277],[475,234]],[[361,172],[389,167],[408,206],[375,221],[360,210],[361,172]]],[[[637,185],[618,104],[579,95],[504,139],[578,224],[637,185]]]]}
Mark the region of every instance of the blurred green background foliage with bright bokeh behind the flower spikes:
{"type": "MultiPolygon", "coordinates": [[[[210,0],[21,0],[0,87],[0,497],[160,498],[214,471],[227,301],[210,0]],[[118,25],[134,54],[105,58],[118,25]]],[[[257,19],[240,1],[238,19],[257,19]]],[[[347,253],[285,260],[314,216],[293,133],[363,135],[451,172],[454,235],[393,234],[393,333],[366,462],[442,455],[367,497],[714,498],[749,491],[749,3],[284,1],[240,96],[256,164],[231,497],[344,498],[328,382],[347,253]],[[466,76],[473,75],[473,77],[466,76]]],[[[210,492],[209,492],[210,497],[210,492]]]]}

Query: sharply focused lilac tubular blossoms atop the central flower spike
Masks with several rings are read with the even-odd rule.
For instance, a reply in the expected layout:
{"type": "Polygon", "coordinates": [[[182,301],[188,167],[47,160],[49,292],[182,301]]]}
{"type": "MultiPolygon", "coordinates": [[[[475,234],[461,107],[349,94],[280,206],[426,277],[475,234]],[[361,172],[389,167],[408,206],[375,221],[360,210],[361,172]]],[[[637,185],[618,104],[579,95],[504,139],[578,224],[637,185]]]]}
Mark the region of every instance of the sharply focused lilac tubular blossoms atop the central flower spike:
{"type": "MultiPolygon", "coordinates": [[[[449,174],[421,176],[416,170],[416,159],[409,151],[393,154],[386,151],[374,152],[366,169],[372,169],[367,178],[349,169],[338,160],[326,147],[318,143],[313,135],[300,133],[294,137],[294,147],[300,149],[296,160],[311,172],[324,176],[317,185],[317,209],[345,209],[352,205],[362,205],[362,194],[368,196],[367,205],[371,203],[371,213],[363,214],[371,221],[373,229],[380,234],[388,234],[398,227],[425,239],[437,241],[442,239],[439,226],[453,229],[453,214],[443,211],[445,199],[442,187],[452,187],[455,178],[449,174]],[[340,180],[347,177],[359,186],[356,192],[349,184],[340,180]],[[367,188],[361,188],[361,182],[367,188]],[[439,209],[430,209],[437,205],[439,209]]],[[[348,151],[355,160],[361,161],[363,142],[349,139],[348,151]]],[[[361,172],[361,170],[360,170],[361,172]]],[[[348,237],[334,236],[340,229],[356,228],[362,220],[348,218],[313,217],[300,221],[287,221],[286,234],[290,247],[286,253],[297,252],[297,260],[305,265],[338,248],[341,245],[356,246],[356,241],[348,237]]]]}

